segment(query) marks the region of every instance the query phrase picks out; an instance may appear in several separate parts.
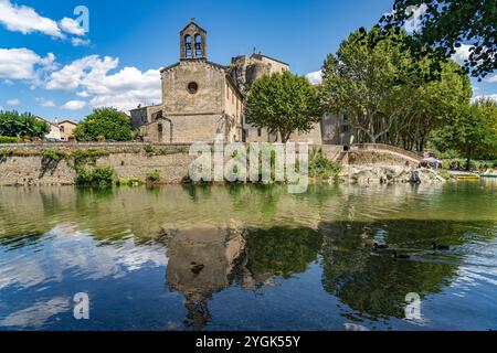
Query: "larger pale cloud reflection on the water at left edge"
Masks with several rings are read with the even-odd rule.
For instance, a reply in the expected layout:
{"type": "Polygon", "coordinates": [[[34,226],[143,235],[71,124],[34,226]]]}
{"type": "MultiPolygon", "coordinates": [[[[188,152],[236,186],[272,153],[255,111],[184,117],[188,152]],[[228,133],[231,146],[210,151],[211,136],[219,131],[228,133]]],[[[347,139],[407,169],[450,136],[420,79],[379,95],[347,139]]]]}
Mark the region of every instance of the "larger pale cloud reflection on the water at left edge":
{"type": "Polygon", "coordinates": [[[137,245],[133,237],[103,244],[88,233],[67,231],[57,227],[33,246],[9,252],[0,248],[0,289],[62,281],[64,271],[96,280],[119,278],[145,265],[167,265],[166,249],[160,245],[137,245]]]}

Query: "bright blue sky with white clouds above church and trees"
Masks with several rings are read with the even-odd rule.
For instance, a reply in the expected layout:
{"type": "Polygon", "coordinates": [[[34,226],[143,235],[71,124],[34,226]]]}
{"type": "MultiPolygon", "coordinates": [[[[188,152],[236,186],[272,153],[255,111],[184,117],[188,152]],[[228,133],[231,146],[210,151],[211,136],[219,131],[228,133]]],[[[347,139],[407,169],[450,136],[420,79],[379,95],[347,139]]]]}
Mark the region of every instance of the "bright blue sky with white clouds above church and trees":
{"type": "MultiPolygon", "coordinates": [[[[315,73],[351,31],[370,28],[391,6],[392,0],[0,0],[0,109],[81,120],[96,106],[159,103],[158,69],[178,61],[178,33],[190,18],[209,32],[213,62],[229,64],[256,47],[288,62],[295,73],[315,73]],[[87,33],[75,21],[77,6],[89,11],[87,33]]],[[[489,81],[474,81],[475,96],[497,99],[497,79],[489,81]]]]}

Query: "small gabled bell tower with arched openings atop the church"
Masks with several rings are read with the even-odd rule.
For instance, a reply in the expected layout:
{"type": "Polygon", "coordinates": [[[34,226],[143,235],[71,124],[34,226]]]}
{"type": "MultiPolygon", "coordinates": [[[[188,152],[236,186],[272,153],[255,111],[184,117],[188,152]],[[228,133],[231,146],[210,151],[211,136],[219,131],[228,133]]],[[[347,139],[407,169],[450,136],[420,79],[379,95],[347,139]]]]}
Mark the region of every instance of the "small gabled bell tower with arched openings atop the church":
{"type": "Polygon", "coordinates": [[[180,60],[207,60],[207,31],[195,19],[180,32],[180,60]]]}

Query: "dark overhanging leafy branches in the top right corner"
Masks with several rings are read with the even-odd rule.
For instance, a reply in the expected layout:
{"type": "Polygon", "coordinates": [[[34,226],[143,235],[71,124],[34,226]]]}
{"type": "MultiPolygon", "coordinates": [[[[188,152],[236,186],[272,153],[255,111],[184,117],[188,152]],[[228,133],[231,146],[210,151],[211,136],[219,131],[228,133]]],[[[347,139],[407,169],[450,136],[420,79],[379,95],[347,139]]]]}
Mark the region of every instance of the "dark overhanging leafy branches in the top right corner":
{"type": "Polygon", "coordinates": [[[448,56],[470,43],[465,67],[474,76],[497,68],[497,2],[495,0],[395,0],[382,18],[384,28],[402,28],[413,15],[421,28],[413,36],[448,56]]]}

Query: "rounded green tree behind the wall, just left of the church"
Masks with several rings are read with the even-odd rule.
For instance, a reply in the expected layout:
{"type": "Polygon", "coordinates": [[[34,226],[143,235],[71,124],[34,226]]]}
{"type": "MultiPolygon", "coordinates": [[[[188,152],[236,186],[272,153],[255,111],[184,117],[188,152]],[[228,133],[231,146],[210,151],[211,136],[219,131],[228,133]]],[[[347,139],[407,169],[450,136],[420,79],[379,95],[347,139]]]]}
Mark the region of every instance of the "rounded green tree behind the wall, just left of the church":
{"type": "Polygon", "coordinates": [[[131,122],[115,108],[97,108],[74,130],[78,141],[98,141],[102,138],[116,141],[133,139],[131,122]]]}

